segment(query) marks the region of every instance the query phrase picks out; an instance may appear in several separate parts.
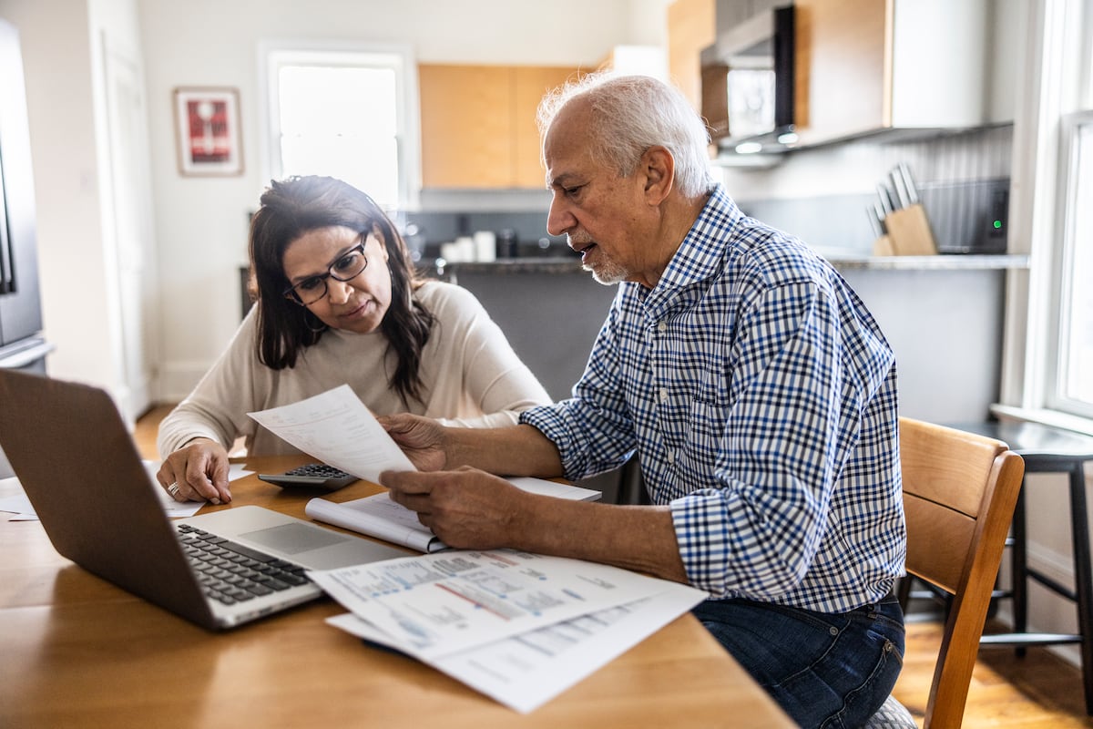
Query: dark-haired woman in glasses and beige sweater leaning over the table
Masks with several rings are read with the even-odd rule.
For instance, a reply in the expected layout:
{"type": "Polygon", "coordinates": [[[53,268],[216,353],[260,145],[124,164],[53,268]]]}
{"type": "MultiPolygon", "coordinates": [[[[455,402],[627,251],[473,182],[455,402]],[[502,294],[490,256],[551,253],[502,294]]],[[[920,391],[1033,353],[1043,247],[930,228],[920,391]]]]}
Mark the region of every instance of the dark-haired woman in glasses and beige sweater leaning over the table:
{"type": "Polygon", "coordinates": [[[158,481],[178,501],[231,501],[227,449],[298,452],[248,412],[349,384],[377,414],[469,427],[550,401],[465,289],[418,277],[364,192],[330,177],[274,181],[250,222],[256,304],[227,350],[160,425],[158,481]]]}

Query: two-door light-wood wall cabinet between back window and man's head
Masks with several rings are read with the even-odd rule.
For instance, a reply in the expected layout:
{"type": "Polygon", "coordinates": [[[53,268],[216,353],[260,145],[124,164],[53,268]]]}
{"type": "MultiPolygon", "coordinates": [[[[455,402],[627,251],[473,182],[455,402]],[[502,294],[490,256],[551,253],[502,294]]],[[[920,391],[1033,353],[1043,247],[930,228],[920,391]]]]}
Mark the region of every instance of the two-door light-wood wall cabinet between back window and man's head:
{"type": "Polygon", "coordinates": [[[418,67],[422,185],[536,188],[544,185],[536,109],[577,73],[569,67],[418,67]]]}

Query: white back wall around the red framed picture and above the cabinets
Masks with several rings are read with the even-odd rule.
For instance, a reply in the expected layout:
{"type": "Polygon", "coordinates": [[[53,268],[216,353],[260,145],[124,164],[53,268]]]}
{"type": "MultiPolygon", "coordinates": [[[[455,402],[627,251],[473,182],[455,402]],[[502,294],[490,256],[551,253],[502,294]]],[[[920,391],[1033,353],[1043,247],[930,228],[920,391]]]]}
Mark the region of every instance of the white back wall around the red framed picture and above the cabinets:
{"type": "Polygon", "coordinates": [[[663,44],[667,0],[137,0],[163,292],[161,386],[185,395],[238,321],[237,267],[262,188],[259,42],[409,44],[420,62],[592,67],[621,44],[663,44]],[[235,86],[244,174],[180,177],[172,90],[235,86]]]}

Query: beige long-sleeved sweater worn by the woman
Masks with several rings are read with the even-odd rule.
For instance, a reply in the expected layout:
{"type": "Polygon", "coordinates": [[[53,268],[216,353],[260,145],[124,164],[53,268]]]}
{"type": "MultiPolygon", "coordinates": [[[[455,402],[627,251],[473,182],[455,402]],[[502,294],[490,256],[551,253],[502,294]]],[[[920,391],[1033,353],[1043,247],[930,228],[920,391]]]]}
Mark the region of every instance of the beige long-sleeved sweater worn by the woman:
{"type": "MultiPolygon", "coordinates": [[[[411,401],[409,412],[449,424],[495,427],[515,423],[521,410],[550,402],[473,294],[433,281],[419,289],[415,297],[436,321],[422,353],[424,404],[411,401]]],[[[258,362],[256,333],[251,309],[227,350],[161,423],[161,456],[200,436],[225,448],[245,436],[252,455],[298,452],[247,413],[297,402],[342,384],[376,415],[407,412],[389,384],[395,355],[388,354],[383,333],[328,330],[303,351],[295,367],[279,371],[258,362]]]]}

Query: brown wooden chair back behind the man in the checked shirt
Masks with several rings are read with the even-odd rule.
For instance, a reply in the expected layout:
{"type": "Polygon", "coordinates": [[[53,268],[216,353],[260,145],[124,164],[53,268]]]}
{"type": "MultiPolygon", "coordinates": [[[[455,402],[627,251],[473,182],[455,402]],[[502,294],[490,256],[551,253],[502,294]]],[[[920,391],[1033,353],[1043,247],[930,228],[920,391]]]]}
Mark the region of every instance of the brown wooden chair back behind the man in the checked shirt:
{"type": "Polygon", "coordinates": [[[900,419],[907,572],[952,595],[926,727],[960,727],[1024,461],[1000,440],[900,419]]]}

